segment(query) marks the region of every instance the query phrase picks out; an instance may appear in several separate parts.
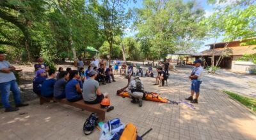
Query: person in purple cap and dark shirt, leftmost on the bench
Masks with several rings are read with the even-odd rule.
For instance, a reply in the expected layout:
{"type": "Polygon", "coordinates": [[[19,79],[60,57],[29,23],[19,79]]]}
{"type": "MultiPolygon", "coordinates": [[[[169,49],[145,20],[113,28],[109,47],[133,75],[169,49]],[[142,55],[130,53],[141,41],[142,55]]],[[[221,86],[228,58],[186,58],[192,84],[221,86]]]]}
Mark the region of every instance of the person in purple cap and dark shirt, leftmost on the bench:
{"type": "Polygon", "coordinates": [[[46,80],[46,75],[47,74],[44,69],[36,71],[36,77],[33,80],[33,92],[35,92],[36,95],[41,95],[41,87],[46,80]]]}

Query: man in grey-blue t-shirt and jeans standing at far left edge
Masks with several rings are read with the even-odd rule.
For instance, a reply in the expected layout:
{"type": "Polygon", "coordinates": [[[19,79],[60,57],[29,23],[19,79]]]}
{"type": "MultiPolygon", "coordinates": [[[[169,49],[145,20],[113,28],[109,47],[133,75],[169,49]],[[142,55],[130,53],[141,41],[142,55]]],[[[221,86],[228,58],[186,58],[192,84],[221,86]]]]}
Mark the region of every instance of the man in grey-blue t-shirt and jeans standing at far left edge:
{"type": "Polygon", "coordinates": [[[19,107],[28,106],[20,101],[20,90],[13,71],[15,71],[15,67],[5,60],[4,52],[0,52],[0,92],[6,112],[17,111],[19,107]],[[9,102],[10,90],[13,92],[15,108],[9,102]]]}

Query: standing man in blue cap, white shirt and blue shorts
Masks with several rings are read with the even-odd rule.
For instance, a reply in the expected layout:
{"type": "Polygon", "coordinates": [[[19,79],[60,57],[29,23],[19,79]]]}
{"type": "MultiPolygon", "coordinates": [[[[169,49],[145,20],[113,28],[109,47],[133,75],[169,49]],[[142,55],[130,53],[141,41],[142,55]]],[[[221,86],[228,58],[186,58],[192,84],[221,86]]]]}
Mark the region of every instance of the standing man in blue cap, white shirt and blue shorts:
{"type": "Polygon", "coordinates": [[[191,95],[186,98],[186,100],[191,101],[191,103],[198,103],[198,97],[200,94],[200,85],[202,83],[202,74],[203,74],[203,67],[201,66],[202,60],[197,59],[194,62],[195,67],[192,69],[192,73],[189,76],[191,80],[191,95]],[[193,99],[193,95],[196,93],[195,99],[193,99]]]}

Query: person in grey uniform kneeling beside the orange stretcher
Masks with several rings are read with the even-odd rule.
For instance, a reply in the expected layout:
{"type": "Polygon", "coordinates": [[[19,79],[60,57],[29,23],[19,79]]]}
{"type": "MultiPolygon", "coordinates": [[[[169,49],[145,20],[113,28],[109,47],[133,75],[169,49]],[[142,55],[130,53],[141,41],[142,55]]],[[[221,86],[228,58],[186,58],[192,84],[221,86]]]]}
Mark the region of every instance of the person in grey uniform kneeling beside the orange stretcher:
{"type": "Polygon", "coordinates": [[[136,76],[134,80],[129,83],[128,93],[132,97],[132,103],[136,104],[139,102],[139,106],[142,106],[142,97],[144,93],[143,83],[139,76],[136,76]]]}

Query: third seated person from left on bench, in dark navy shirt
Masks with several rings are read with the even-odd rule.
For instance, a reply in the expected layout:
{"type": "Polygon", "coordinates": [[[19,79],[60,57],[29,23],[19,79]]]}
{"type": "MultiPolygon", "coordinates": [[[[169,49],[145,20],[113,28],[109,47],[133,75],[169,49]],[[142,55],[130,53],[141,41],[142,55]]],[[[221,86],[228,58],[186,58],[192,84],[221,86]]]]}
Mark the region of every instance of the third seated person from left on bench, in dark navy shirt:
{"type": "Polygon", "coordinates": [[[53,95],[56,99],[63,99],[66,97],[65,87],[69,78],[69,73],[67,71],[61,71],[59,75],[59,80],[54,84],[53,95]]]}

